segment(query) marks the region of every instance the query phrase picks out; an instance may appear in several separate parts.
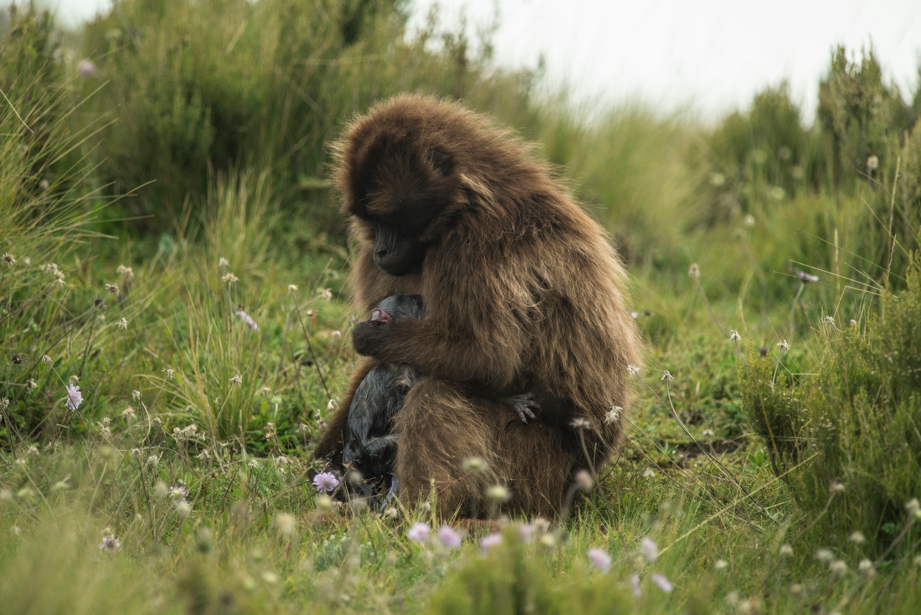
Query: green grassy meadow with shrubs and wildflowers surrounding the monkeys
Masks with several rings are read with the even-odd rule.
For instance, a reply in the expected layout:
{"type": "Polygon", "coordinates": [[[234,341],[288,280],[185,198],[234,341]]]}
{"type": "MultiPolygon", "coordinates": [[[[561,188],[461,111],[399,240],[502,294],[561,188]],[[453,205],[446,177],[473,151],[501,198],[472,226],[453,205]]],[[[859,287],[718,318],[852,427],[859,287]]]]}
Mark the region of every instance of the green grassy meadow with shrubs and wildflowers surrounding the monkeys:
{"type": "Polygon", "coordinates": [[[776,84],[708,125],[577,105],[495,69],[489,25],[407,10],[0,17],[2,610],[921,610],[921,74],[832,50],[815,118],[776,84]],[[646,340],[568,515],[459,547],[434,493],[380,512],[310,482],[365,318],[329,144],[402,91],[539,145],[646,340]]]}

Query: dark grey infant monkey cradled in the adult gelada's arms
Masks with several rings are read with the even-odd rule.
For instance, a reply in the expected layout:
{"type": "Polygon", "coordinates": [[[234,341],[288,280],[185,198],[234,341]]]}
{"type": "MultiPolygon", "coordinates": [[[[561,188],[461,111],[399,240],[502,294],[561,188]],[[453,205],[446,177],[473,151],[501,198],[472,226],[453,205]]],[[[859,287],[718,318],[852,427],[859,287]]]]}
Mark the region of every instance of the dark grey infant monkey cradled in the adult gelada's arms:
{"type": "MultiPolygon", "coordinates": [[[[422,296],[394,295],[371,310],[367,322],[383,327],[391,321],[421,320],[425,316],[422,296]]],[[[358,385],[349,406],[343,463],[351,464],[365,479],[374,481],[382,477],[389,480],[391,492],[395,489],[393,465],[400,438],[399,434],[391,433],[393,417],[402,408],[406,394],[422,377],[423,374],[411,366],[381,363],[358,385]]],[[[484,390],[481,394],[505,400],[524,423],[527,423],[527,416],[537,418],[531,408],[541,407],[532,393],[502,394],[484,390]]]]}

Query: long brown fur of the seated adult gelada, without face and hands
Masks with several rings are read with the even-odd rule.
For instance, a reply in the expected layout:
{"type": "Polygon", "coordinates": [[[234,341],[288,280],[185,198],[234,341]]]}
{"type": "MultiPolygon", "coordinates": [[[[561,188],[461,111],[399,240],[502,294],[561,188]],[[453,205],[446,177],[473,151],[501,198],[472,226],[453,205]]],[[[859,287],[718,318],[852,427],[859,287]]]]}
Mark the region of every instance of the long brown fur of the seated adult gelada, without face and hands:
{"type": "Polygon", "coordinates": [[[387,100],[357,117],[336,151],[335,183],[357,243],[356,308],[367,313],[384,297],[418,293],[426,318],[391,323],[366,343],[373,358],[356,369],[316,456],[341,459],[345,415],[367,371],[379,361],[405,363],[428,377],[394,427],[402,495],[427,496],[434,480],[442,514],[464,515],[472,477],[461,465],[479,457],[489,467],[479,484],[507,485],[507,509],[553,516],[573,471],[586,464],[569,423],[588,419],[594,462],[610,458],[623,412],[605,417],[627,407],[627,365],[639,347],[624,267],[605,233],[529,145],[458,103],[387,100]],[[417,225],[428,244],[418,273],[394,277],[374,264],[367,218],[375,216],[417,225]],[[539,383],[572,410],[522,424],[471,382],[519,390],[539,383]]]}

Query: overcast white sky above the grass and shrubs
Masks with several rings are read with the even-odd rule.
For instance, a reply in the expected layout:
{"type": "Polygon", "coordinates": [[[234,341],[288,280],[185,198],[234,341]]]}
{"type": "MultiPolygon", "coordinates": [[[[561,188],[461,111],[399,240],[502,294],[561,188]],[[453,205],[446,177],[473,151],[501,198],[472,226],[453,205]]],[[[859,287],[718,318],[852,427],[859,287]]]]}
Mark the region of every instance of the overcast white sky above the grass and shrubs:
{"type": "MultiPolygon", "coordinates": [[[[433,0],[414,0],[416,18],[433,0]]],[[[74,22],[109,0],[50,0],[74,22]]],[[[0,4],[6,4],[0,0],[0,4]]],[[[471,24],[497,7],[496,61],[535,65],[583,97],[639,97],[664,110],[688,103],[715,116],[787,78],[811,119],[819,77],[837,43],[873,41],[885,74],[914,87],[921,52],[921,0],[440,0],[471,24]],[[464,8],[465,7],[465,8],[464,8]]],[[[416,22],[420,23],[420,22],[416,22]]]]}

